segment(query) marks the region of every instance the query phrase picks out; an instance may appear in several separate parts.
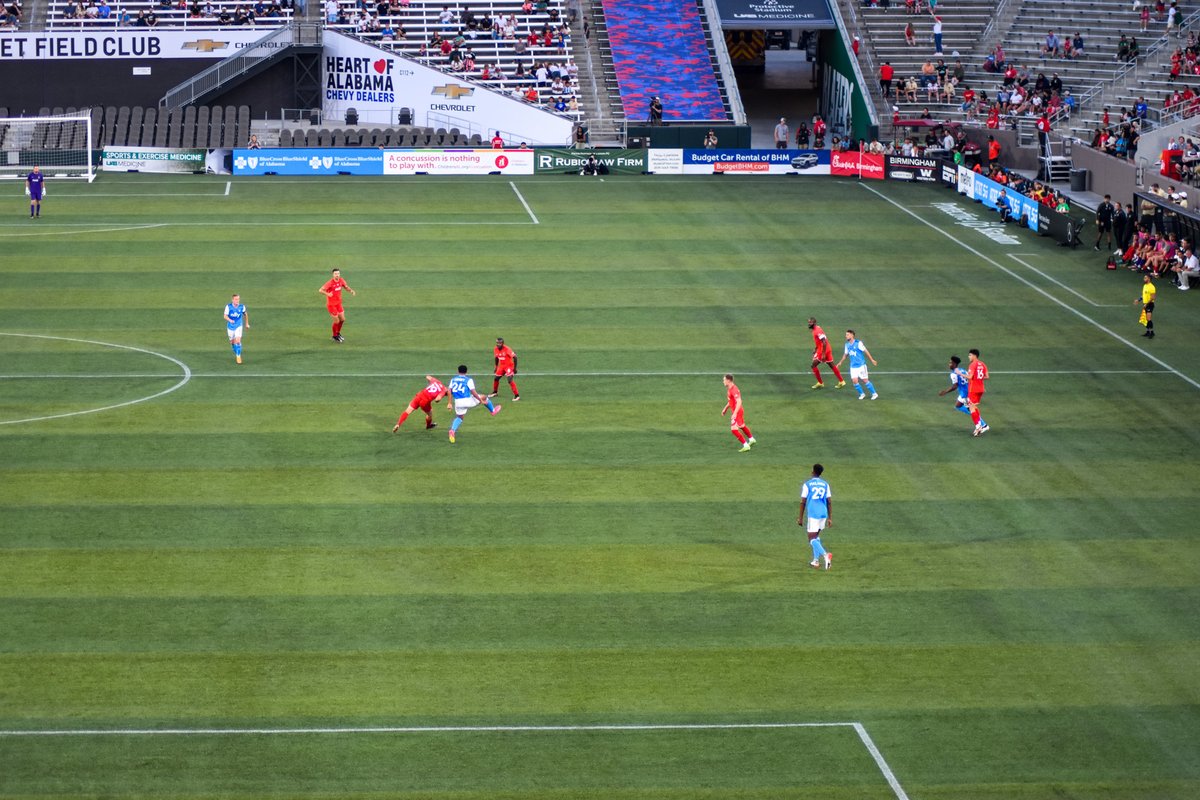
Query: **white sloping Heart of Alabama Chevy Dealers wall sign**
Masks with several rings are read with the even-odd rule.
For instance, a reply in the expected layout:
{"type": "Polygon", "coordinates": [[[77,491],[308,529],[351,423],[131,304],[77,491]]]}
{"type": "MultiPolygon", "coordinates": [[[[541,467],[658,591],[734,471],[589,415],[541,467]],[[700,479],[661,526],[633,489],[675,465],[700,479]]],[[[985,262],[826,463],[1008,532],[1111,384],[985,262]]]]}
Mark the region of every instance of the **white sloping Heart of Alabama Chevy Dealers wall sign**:
{"type": "MultiPolygon", "coordinates": [[[[334,30],[324,32],[322,108],[326,119],[355,109],[359,124],[394,125],[401,108],[413,124],[470,132],[504,131],[510,143],[564,145],[571,120],[457,76],[382,50],[334,30]]],[[[484,138],[491,136],[484,133],[484,138]]]]}

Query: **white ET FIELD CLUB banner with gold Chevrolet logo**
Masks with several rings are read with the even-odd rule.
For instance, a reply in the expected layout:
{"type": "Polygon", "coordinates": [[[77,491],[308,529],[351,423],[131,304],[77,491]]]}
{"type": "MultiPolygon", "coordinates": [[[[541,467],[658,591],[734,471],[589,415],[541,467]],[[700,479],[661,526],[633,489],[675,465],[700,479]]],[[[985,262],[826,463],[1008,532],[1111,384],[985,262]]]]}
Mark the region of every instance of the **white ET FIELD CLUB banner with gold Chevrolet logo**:
{"type": "Polygon", "coordinates": [[[264,29],[126,30],[5,34],[0,61],[66,59],[223,59],[263,38],[264,29]]]}

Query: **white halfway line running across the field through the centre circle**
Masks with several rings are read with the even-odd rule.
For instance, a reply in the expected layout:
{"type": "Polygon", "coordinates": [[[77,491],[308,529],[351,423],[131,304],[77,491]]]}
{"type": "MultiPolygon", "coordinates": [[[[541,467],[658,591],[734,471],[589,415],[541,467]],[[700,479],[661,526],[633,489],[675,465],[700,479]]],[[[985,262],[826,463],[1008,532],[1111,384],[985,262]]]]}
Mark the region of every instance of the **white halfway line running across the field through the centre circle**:
{"type": "MultiPolygon", "coordinates": [[[[8,336],[8,335],[5,335],[8,336]]],[[[49,338],[49,337],[47,337],[49,338]]],[[[76,339],[72,339],[76,341],[76,339]]],[[[112,345],[120,347],[120,345],[112,345]]],[[[136,348],[132,348],[136,349],[136,348]]],[[[145,350],[149,353],[149,350],[145,350]]],[[[158,354],[155,354],[158,355],[158,354]]],[[[163,356],[167,357],[167,356],[163,356]]],[[[994,375],[1171,375],[1170,369],[991,369],[994,375]]],[[[427,372],[193,372],[193,380],[199,378],[424,378],[427,372]]],[[[706,372],[522,372],[526,378],[712,378],[722,374],[716,371],[706,372]]],[[[751,378],[808,375],[811,371],[799,372],[738,372],[739,377],[751,378]]],[[[887,372],[872,369],[872,375],[911,377],[946,375],[946,369],[925,369],[906,372],[887,372]]],[[[173,380],[178,374],[158,374],[152,372],[112,372],[112,373],[8,373],[0,374],[0,380],[131,380],[163,379],[173,380]]]]}

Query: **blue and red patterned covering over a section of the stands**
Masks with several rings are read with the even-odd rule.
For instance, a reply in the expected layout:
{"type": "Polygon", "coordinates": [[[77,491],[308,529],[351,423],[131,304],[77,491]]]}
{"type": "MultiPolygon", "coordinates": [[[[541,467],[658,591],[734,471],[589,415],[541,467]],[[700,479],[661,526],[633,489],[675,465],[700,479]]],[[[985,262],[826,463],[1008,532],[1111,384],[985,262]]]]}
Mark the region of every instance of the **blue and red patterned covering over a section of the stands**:
{"type": "Polygon", "coordinates": [[[646,120],[655,95],[667,122],[733,118],[701,4],[604,0],[601,6],[620,101],[631,119],[646,120]]]}

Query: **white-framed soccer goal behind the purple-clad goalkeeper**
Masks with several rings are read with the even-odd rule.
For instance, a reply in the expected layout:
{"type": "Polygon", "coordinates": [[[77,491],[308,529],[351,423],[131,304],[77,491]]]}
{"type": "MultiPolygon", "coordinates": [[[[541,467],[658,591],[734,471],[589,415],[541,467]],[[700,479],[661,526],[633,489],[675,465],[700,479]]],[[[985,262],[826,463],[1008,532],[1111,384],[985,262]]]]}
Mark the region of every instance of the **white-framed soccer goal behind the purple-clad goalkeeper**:
{"type": "Polygon", "coordinates": [[[0,118],[0,178],[18,178],[41,167],[54,178],[96,180],[90,110],[54,116],[0,118]]]}

